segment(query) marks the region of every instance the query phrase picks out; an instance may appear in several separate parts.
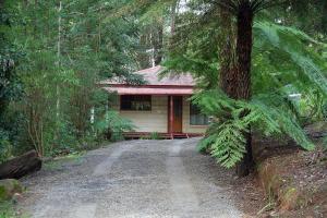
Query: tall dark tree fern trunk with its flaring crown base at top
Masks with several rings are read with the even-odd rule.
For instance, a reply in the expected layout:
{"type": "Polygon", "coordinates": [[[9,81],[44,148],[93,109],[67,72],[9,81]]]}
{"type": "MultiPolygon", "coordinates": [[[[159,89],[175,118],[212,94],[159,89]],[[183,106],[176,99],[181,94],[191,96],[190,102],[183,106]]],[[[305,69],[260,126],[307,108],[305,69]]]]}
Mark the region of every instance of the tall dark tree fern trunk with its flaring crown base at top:
{"type": "MultiPolygon", "coordinates": [[[[265,8],[270,7],[271,0],[241,0],[241,1],[223,1],[217,0],[222,10],[227,10],[237,17],[237,71],[229,71],[233,92],[229,95],[235,99],[251,99],[251,63],[252,63],[252,46],[253,46],[253,21],[255,14],[265,8]]],[[[230,89],[230,87],[227,87],[230,89]]],[[[250,129],[250,126],[249,126],[250,129]]],[[[253,161],[251,130],[246,134],[246,154],[242,161],[238,165],[237,173],[240,177],[247,175],[253,161]]]]}

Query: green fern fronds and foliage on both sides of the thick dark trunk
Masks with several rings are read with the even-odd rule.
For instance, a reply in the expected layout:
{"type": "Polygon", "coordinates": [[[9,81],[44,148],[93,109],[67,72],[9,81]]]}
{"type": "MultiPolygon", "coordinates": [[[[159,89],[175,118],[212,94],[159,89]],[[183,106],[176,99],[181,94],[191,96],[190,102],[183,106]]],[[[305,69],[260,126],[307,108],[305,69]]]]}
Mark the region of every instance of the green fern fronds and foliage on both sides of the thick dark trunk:
{"type": "Polygon", "coordinates": [[[209,16],[207,23],[202,22],[203,14],[192,10],[180,15],[181,21],[187,22],[179,29],[177,45],[166,61],[170,70],[193,73],[203,89],[193,100],[214,122],[198,150],[210,150],[221,165],[231,167],[244,154],[242,135],[250,131],[249,126],[268,136],[289,135],[303,148],[313,149],[301,124],[302,117],[313,121],[323,116],[327,99],[326,59],[318,51],[326,50],[326,45],[296,28],[256,21],[253,98],[250,102],[232,100],[217,88],[219,75],[215,71],[219,72],[217,62],[221,57],[218,60],[215,57],[221,48],[213,45],[219,45],[219,33],[215,32],[219,29],[219,16],[214,12],[205,15],[209,16]],[[211,36],[210,39],[207,36],[211,36]],[[291,94],[300,94],[300,101],[289,97],[291,94]]]}

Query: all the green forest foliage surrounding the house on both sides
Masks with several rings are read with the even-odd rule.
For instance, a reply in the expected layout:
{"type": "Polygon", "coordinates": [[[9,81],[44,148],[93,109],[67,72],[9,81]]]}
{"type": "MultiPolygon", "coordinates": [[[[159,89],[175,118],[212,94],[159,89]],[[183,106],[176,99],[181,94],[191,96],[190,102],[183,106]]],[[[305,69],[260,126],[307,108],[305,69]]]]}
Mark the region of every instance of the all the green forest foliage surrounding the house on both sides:
{"type": "Polygon", "coordinates": [[[255,21],[249,102],[232,100],[217,88],[219,62],[226,58],[219,57],[220,36],[227,29],[219,7],[209,1],[187,1],[187,10],[180,11],[175,0],[63,0],[61,10],[55,0],[4,2],[0,8],[2,160],[31,147],[40,155],[75,152],[104,140],[108,130],[111,140],[122,138],[121,133],[134,126],[108,111],[112,96],[96,84],[112,76],[142,83],[129,72],[148,64],[146,49],[169,51],[168,72],[190,72],[197,80],[204,92],[193,100],[213,118],[199,149],[208,148],[226,167],[244,155],[249,126],[265,135],[287,134],[312,149],[301,124],[326,119],[327,46],[322,43],[327,38],[326,17],[317,14],[327,4],[320,0],[289,1],[255,21]],[[307,13],[313,16],[303,19],[307,13]],[[171,37],[167,27],[172,22],[171,37]],[[322,29],[316,23],[323,23],[322,29]],[[291,94],[301,94],[301,99],[290,98],[291,94]]]}

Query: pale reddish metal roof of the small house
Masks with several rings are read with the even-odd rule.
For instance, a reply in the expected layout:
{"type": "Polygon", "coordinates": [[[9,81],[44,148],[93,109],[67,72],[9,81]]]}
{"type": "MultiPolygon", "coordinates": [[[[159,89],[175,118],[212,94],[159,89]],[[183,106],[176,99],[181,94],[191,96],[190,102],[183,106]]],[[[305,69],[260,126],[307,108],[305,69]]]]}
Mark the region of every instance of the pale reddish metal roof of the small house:
{"type": "Polygon", "coordinates": [[[191,74],[160,77],[162,70],[157,65],[135,72],[144,77],[144,85],[129,85],[118,78],[102,81],[100,85],[118,95],[192,95],[195,82],[191,74]]]}

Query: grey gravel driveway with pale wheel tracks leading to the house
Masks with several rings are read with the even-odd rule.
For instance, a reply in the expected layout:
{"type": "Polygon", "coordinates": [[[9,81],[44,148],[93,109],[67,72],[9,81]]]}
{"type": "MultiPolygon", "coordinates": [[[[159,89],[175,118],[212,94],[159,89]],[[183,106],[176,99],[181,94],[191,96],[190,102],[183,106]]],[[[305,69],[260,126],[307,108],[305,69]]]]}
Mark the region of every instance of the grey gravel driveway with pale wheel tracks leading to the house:
{"type": "Polygon", "coordinates": [[[197,138],[126,141],[23,181],[35,218],[238,218],[226,171],[195,152],[197,138]]]}

